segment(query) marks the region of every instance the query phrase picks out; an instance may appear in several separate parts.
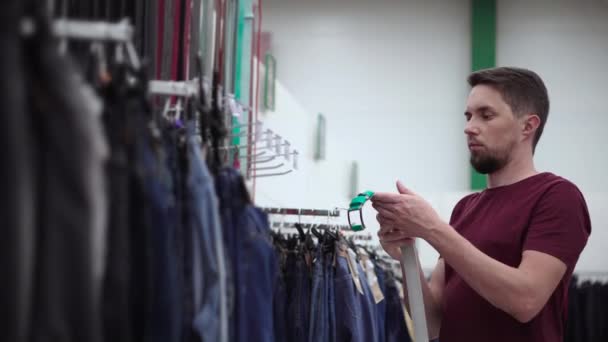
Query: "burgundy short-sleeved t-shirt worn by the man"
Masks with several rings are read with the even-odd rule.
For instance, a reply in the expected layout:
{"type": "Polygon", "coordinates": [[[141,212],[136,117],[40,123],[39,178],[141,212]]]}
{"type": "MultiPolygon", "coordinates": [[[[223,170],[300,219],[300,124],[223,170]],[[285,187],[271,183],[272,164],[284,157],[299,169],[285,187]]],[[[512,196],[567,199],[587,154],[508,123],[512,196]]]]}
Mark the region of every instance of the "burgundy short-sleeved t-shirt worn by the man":
{"type": "Polygon", "coordinates": [[[523,324],[492,306],[446,263],[439,341],[562,341],[568,284],[591,233],[587,205],[578,188],[552,173],[540,173],[463,198],[450,224],[483,253],[506,265],[518,267],[523,251],[534,250],[560,259],[568,268],[545,307],[523,324]]]}

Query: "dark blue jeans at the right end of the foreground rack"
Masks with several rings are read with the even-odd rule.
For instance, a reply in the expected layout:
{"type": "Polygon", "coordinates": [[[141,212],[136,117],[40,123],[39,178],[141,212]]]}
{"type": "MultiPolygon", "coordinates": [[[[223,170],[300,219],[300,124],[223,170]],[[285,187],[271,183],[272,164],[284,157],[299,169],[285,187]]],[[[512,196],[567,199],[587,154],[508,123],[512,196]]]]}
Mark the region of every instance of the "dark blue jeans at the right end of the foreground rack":
{"type": "Polygon", "coordinates": [[[216,189],[234,277],[231,340],[275,341],[272,298],[278,265],[268,218],[250,204],[243,179],[236,170],[223,169],[217,176],[216,189]]]}

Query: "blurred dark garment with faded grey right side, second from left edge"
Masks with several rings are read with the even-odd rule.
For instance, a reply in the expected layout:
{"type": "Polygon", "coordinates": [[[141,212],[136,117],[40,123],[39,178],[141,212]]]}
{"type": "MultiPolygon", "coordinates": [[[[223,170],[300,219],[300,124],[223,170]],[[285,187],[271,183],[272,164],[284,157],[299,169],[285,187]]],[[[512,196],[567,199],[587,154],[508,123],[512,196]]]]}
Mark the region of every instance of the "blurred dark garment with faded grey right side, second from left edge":
{"type": "Polygon", "coordinates": [[[39,144],[31,340],[98,341],[107,155],[101,103],[39,25],[26,47],[39,144]]]}

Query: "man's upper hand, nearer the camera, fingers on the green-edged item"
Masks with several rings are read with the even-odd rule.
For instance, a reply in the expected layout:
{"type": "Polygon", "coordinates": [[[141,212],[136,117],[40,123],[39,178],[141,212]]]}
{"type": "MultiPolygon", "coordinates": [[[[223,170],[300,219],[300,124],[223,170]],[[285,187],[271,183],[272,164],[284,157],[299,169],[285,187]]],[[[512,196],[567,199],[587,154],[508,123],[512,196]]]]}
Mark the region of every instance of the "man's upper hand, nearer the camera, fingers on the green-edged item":
{"type": "Polygon", "coordinates": [[[397,190],[399,194],[378,192],[371,199],[374,209],[378,211],[381,232],[385,236],[390,231],[397,231],[400,234],[392,235],[393,238],[425,239],[431,230],[443,224],[431,205],[400,181],[397,181],[397,190]]]}

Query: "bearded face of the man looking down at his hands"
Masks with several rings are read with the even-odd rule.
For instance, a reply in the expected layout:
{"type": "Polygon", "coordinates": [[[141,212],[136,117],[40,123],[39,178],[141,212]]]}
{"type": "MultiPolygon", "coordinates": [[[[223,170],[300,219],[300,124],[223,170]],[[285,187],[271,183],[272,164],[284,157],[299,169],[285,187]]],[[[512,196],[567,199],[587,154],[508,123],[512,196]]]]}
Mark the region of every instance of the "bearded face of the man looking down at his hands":
{"type": "Polygon", "coordinates": [[[471,165],[482,174],[502,169],[519,141],[520,126],[511,107],[491,86],[477,85],[469,94],[465,117],[471,165]]]}

